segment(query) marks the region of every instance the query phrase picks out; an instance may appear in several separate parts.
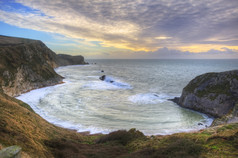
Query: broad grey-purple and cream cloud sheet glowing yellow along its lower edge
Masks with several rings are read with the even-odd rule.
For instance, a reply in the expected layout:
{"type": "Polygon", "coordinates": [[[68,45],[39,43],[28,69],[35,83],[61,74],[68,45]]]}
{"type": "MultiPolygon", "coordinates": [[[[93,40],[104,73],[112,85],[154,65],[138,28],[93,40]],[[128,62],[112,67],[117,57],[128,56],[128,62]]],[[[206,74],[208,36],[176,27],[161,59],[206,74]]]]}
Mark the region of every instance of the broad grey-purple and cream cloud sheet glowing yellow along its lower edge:
{"type": "Polygon", "coordinates": [[[1,21],[87,42],[98,41],[103,47],[205,52],[238,46],[237,0],[16,2],[33,11],[0,10],[1,21]]]}

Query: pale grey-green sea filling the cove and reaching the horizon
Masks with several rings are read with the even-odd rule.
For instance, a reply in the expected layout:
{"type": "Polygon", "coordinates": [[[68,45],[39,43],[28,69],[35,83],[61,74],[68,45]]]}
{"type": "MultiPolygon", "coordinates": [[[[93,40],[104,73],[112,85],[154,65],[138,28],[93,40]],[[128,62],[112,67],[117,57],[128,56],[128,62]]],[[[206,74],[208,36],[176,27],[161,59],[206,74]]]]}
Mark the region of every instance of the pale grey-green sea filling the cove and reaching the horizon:
{"type": "Polygon", "coordinates": [[[64,84],[22,94],[39,115],[79,132],[136,128],[146,135],[199,130],[213,118],[168,101],[194,77],[238,68],[238,60],[89,60],[56,72],[64,84]],[[94,64],[96,63],[96,64],[94,64]],[[102,72],[102,70],[104,72],[102,72]],[[106,80],[99,77],[106,75],[106,80]],[[202,123],[203,125],[198,125],[202,123]]]}

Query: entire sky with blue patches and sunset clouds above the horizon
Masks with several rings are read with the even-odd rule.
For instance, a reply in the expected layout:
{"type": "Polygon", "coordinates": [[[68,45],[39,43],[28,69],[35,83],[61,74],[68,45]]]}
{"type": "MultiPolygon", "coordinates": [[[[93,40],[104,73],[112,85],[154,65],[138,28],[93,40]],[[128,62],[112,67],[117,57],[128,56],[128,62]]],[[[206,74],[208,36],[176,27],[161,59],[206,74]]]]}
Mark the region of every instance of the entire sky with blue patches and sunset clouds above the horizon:
{"type": "Polygon", "coordinates": [[[0,0],[0,35],[86,59],[238,59],[238,0],[0,0]]]}

